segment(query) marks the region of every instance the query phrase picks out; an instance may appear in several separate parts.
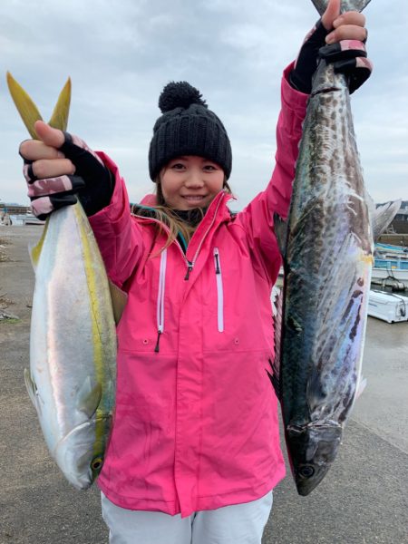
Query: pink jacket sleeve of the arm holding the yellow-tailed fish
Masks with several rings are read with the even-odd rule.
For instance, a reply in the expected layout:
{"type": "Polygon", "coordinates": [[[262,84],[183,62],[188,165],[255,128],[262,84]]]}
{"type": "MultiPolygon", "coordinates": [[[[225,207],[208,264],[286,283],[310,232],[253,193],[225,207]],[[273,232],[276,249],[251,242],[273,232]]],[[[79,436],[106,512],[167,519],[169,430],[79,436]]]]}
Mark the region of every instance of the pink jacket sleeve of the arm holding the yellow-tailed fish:
{"type": "Polygon", "coordinates": [[[108,276],[118,287],[131,276],[142,255],[141,227],[131,219],[131,208],[124,181],[116,164],[104,153],[97,154],[115,177],[110,204],[89,218],[101,250],[108,276]]]}

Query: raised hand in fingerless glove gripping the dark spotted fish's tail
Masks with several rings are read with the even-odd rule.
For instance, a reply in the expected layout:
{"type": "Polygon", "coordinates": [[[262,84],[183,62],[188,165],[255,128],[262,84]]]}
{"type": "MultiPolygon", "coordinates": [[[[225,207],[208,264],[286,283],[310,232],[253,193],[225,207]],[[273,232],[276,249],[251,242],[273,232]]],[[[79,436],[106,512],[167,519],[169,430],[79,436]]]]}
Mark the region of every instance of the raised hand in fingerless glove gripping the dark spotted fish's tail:
{"type": "Polygon", "coordinates": [[[320,58],[333,63],[336,73],[345,73],[349,91],[355,92],[371,75],[367,59],[365,17],[358,12],[340,14],[341,0],[330,0],[325,13],[306,40],[289,75],[289,83],[309,94],[312,78],[320,58]]]}

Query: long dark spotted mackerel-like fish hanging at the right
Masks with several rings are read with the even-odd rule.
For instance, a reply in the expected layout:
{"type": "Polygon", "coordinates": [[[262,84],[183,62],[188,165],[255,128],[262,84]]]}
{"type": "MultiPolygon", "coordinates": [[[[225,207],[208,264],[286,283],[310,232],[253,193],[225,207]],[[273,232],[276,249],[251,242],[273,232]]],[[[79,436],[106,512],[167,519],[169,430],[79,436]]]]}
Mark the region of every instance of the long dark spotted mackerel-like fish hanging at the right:
{"type": "MultiPolygon", "coordinates": [[[[322,15],[327,0],[312,1],[322,15]]],[[[343,1],[342,12],[369,1],[343,1]]],[[[355,402],[373,265],[347,83],[325,61],[307,105],[285,229],[276,219],[285,282],[272,381],[296,489],[307,495],[335,460],[355,402]]]]}

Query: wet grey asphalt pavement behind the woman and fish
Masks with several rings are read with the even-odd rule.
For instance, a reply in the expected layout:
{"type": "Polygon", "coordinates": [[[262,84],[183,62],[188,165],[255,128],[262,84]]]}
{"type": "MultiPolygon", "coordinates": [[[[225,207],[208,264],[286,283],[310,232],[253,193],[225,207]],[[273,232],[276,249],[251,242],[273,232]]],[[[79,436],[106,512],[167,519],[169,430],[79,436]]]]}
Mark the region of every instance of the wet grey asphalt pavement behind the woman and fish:
{"type": "MultiPolygon", "coordinates": [[[[50,459],[25,391],[41,227],[0,228],[0,544],[108,541],[96,486],[76,491],[50,459]]],[[[274,493],[263,544],[408,544],[408,322],[369,318],[367,387],[325,480],[296,494],[290,470],[274,493]]],[[[285,448],[284,448],[285,449],[285,448]]]]}

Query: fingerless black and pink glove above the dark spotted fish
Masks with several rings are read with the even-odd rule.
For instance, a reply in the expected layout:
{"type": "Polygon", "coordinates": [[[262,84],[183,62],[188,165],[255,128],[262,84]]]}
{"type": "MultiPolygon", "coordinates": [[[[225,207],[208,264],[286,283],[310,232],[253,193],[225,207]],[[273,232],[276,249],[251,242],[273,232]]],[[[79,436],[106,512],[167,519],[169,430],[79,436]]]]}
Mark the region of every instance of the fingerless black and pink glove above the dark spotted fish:
{"type": "Polygon", "coordinates": [[[325,44],[326,30],[319,20],[297,56],[295,68],[289,74],[289,83],[296,91],[310,94],[312,79],[320,59],[333,63],[335,73],[344,73],[347,77],[350,94],[355,92],[371,75],[372,63],[367,59],[365,45],[359,40],[342,40],[336,44],[325,44]]]}

